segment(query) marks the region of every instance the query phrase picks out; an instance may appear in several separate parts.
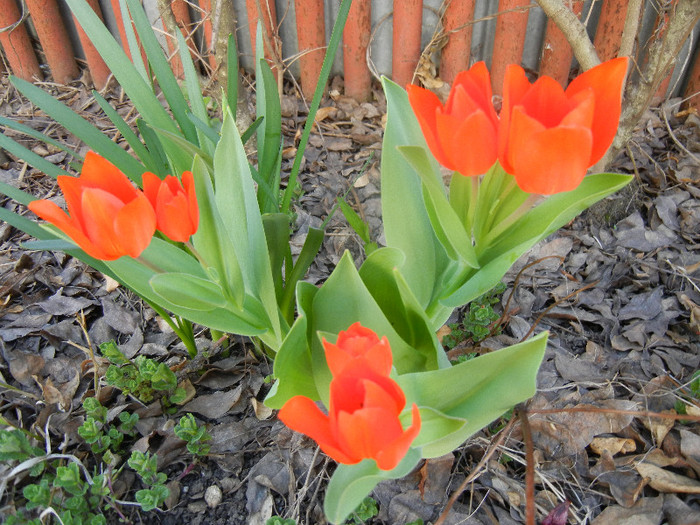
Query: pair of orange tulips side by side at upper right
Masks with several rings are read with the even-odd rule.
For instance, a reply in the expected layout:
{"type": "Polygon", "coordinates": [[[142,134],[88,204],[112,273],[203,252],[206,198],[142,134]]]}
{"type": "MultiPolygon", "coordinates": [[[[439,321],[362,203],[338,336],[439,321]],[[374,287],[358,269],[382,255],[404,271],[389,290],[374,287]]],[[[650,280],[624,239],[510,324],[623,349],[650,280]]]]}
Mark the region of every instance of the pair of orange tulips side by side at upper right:
{"type": "Polygon", "coordinates": [[[551,195],[578,187],[610,147],[627,62],[600,64],[566,90],[547,76],[531,84],[523,68],[510,65],[498,116],[483,62],[457,76],[444,106],[418,86],[408,86],[408,98],[440,164],[475,176],[498,160],[523,191],[551,195]]]}

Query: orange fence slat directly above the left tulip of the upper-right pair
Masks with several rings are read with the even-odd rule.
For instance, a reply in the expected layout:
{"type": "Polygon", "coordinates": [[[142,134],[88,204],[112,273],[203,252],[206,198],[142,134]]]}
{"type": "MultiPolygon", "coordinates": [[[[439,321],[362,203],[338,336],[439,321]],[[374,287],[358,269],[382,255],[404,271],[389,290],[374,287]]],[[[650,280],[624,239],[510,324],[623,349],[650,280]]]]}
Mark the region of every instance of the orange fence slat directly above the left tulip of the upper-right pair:
{"type": "Polygon", "coordinates": [[[469,68],[474,0],[452,0],[443,17],[447,44],[442,48],[440,79],[452,83],[457,73],[469,68]]]}

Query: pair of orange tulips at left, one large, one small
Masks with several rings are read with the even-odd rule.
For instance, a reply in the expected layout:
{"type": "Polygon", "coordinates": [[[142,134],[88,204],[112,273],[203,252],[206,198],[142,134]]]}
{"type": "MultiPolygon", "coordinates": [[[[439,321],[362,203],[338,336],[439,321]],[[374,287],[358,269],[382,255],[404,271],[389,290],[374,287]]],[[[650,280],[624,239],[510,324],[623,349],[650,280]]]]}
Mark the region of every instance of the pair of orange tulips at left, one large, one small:
{"type": "Polygon", "coordinates": [[[141,191],[108,160],[88,152],[79,177],[58,177],[68,213],[47,199],[30,202],[29,209],[103,261],[138,257],[156,229],[188,241],[199,225],[192,173],[185,172],[182,182],[145,173],[143,181],[141,191]]]}

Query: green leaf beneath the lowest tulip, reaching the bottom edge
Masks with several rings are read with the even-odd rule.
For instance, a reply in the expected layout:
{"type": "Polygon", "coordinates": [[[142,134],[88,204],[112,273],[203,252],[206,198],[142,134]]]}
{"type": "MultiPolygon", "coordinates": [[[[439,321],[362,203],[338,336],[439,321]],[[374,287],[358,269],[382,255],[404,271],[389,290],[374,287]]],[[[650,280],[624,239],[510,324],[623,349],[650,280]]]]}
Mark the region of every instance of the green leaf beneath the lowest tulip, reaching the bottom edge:
{"type": "Polygon", "coordinates": [[[419,461],[420,452],[409,449],[393,470],[380,470],[371,459],[365,459],[356,465],[338,465],[326,489],[323,504],[326,518],[331,523],[344,523],[380,481],[403,478],[419,461]]]}

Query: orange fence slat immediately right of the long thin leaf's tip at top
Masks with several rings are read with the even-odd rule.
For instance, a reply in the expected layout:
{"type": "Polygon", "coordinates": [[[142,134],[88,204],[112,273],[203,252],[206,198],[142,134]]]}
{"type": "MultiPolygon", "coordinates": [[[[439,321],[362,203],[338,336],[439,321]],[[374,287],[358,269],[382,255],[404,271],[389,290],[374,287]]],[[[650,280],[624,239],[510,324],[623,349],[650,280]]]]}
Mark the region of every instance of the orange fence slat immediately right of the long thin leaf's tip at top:
{"type": "Polygon", "coordinates": [[[345,94],[360,102],[369,100],[372,94],[372,77],[367,66],[371,9],[370,0],[354,0],[343,33],[345,94]]]}

